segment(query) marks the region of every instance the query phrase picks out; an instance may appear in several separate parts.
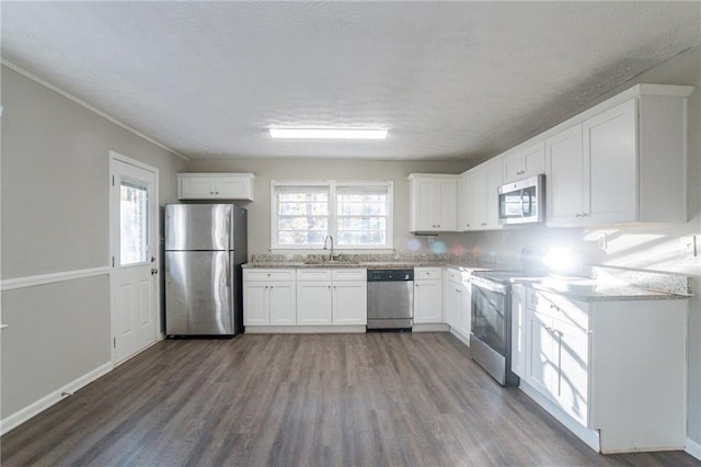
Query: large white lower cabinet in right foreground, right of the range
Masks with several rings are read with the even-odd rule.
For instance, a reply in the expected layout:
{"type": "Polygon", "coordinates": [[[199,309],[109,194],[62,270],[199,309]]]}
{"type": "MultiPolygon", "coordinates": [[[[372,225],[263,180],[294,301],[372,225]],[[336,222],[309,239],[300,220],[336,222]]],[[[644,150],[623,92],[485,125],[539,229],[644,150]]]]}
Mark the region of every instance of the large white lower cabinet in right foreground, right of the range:
{"type": "Polygon", "coordinates": [[[683,447],[687,300],[583,303],[530,287],[525,296],[526,306],[515,287],[521,389],[596,451],[683,447]]]}

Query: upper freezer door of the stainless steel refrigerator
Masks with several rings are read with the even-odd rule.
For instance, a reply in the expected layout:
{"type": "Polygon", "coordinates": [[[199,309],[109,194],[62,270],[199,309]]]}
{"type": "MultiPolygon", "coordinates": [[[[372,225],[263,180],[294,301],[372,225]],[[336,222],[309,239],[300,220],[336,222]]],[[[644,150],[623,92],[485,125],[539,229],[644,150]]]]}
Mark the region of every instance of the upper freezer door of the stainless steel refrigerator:
{"type": "Polygon", "coordinates": [[[165,205],[166,251],[230,250],[231,204],[165,205]]]}

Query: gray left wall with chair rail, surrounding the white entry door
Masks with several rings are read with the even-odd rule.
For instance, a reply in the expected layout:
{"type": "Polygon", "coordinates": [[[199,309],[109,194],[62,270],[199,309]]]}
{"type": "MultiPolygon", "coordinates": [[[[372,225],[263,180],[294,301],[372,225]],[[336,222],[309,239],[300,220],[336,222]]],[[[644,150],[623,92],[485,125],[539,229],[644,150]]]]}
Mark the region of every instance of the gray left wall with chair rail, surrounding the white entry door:
{"type": "MultiPolygon", "coordinates": [[[[108,151],[160,171],[174,201],[185,161],[2,67],[2,278],[107,265],[108,151]]],[[[2,294],[5,418],[111,358],[106,275],[2,294]]]]}

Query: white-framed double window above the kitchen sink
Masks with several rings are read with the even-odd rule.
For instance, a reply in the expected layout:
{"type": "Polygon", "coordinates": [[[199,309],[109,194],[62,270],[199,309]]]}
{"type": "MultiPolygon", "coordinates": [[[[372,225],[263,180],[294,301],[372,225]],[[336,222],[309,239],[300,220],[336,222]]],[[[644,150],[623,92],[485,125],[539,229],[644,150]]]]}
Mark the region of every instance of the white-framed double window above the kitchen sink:
{"type": "Polygon", "coordinates": [[[272,248],[392,248],[392,182],[273,182],[272,248]]]}

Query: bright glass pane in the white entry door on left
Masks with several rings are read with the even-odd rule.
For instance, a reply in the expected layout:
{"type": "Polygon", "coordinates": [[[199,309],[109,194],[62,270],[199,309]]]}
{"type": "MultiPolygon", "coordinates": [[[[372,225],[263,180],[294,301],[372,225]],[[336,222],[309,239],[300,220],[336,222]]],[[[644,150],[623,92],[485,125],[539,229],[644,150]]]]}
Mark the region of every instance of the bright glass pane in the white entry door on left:
{"type": "Polygon", "coordinates": [[[148,262],[148,191],[123,181],[119,186],[119,264],[148,262]]]}

